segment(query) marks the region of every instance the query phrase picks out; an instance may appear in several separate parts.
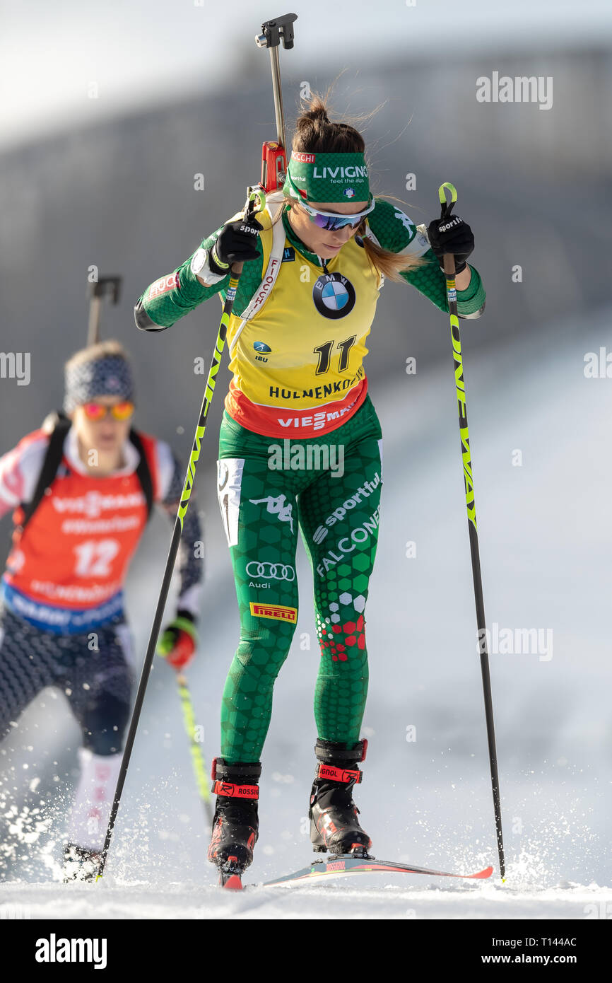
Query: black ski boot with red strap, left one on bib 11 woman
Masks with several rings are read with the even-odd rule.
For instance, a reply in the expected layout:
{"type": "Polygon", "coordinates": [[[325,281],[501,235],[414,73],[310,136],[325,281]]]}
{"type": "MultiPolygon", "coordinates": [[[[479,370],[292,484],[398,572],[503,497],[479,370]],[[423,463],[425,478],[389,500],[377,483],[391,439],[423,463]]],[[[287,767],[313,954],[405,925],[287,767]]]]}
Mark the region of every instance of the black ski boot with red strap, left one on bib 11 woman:
{"type": "Polygon", "coordinates": [[[219,868],[222,888],[242,888],[241,876],[252,861],[257,841],[257,781],[261,764],[226,765],[223,758],[212,762],[212,791],[217,795],[208,859],[219,868]]]}

